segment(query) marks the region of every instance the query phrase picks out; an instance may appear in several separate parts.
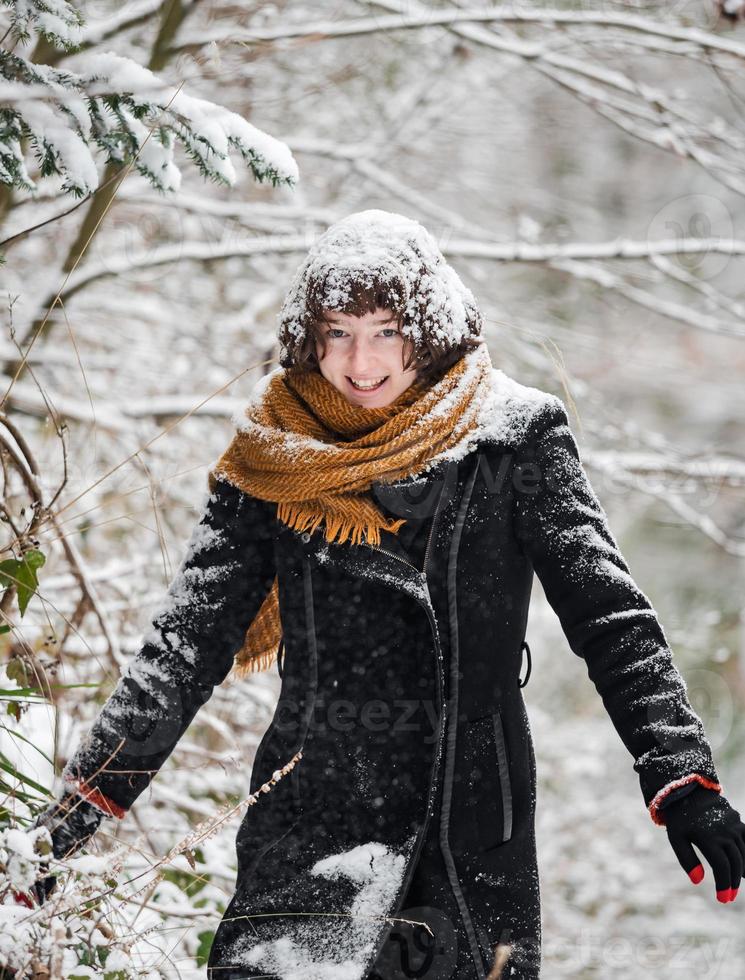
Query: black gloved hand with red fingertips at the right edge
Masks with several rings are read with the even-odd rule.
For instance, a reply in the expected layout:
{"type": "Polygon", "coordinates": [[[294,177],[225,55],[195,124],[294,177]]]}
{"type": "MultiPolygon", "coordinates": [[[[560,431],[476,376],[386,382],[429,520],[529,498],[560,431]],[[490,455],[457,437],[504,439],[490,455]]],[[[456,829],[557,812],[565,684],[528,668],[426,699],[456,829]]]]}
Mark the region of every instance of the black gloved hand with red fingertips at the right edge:
{"type": "Polygon", "coordinates": [[[740,814],[716,790],[697,783],[690,792],[660,807],[668,840],[683,870],[694,883],[704,868],[693,844],[714,870],[720,902],[733,902],[745,874],[745,824],[740,814]]]}

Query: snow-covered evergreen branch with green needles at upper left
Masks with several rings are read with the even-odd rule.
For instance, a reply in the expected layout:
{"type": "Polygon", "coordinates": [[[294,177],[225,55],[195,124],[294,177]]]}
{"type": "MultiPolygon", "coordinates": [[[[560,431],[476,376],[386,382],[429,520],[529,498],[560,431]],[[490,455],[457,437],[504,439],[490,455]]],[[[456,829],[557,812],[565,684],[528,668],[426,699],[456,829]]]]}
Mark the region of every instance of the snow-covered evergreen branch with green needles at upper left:
{"type": "MultiPolygon", "coordinates": [[[[13,4],[16,13],[17,6],[13,4]]],[[[240,154],[258,181],[292,186],[298,179],[297,165],[284,143],[237,113],[186,95],[112,51],[79,55],[75,70],[37,65],[0,51],[0,80],[5,82],[0,183],[35,189],[24,159],[24,139],[30,141],[41,176],[58,174],[63,189],[76,197],[98,186],[96,149],[107,162],[124,164],[134,158],[136,169],[157,190],[177,190],[177,142],[202,176],[218,183],[232,186],[236,181],[231,150],[240,154]]]]}

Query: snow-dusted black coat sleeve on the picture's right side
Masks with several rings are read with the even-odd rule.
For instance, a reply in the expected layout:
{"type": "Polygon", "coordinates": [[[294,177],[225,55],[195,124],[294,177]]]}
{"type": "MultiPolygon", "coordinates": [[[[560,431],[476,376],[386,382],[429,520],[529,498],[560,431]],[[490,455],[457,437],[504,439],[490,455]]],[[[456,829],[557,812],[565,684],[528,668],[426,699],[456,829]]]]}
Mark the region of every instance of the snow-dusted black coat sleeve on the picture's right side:
{"type": "Polygon", "coordinates": [[[692,781],[721,786],[701,719],[587,479],[561,399],[547,396],[515,462],[519,544],[634,758],[652,820],[664,826],[668,794],[692,781]]]}

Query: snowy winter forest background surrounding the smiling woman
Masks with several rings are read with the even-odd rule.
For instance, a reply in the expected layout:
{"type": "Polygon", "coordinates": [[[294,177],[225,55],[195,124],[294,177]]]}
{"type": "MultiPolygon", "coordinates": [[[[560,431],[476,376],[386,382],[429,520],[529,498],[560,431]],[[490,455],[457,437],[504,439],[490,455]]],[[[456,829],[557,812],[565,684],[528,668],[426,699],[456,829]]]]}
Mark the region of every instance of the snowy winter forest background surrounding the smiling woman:
{"type": "MultiPolygon", "coordinates": [[[[494,365],[570,406],[745,806],[739,0],[3,0],[0,69],[0,974],[205,976],[276,666],[215,689],[43,906],[14,895],[298,263],[357,210],[427,227],[494,365]]],[[[537,579],[527,639],[543,975],[745,978],[740,905],[650,821],[537,579]]]]}

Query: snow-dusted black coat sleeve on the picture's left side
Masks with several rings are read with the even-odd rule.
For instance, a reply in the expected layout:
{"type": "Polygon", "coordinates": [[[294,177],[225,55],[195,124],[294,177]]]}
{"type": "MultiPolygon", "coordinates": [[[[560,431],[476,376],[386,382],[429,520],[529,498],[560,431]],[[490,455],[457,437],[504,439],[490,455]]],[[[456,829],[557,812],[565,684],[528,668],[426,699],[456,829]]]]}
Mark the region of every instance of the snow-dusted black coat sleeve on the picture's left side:
{"type": "Polygon", "coordinates": [[[274,581],[276,505],[211,487],[141,648],[62,774],[108,816],[125,815],[226,678],[274,581]]]}

